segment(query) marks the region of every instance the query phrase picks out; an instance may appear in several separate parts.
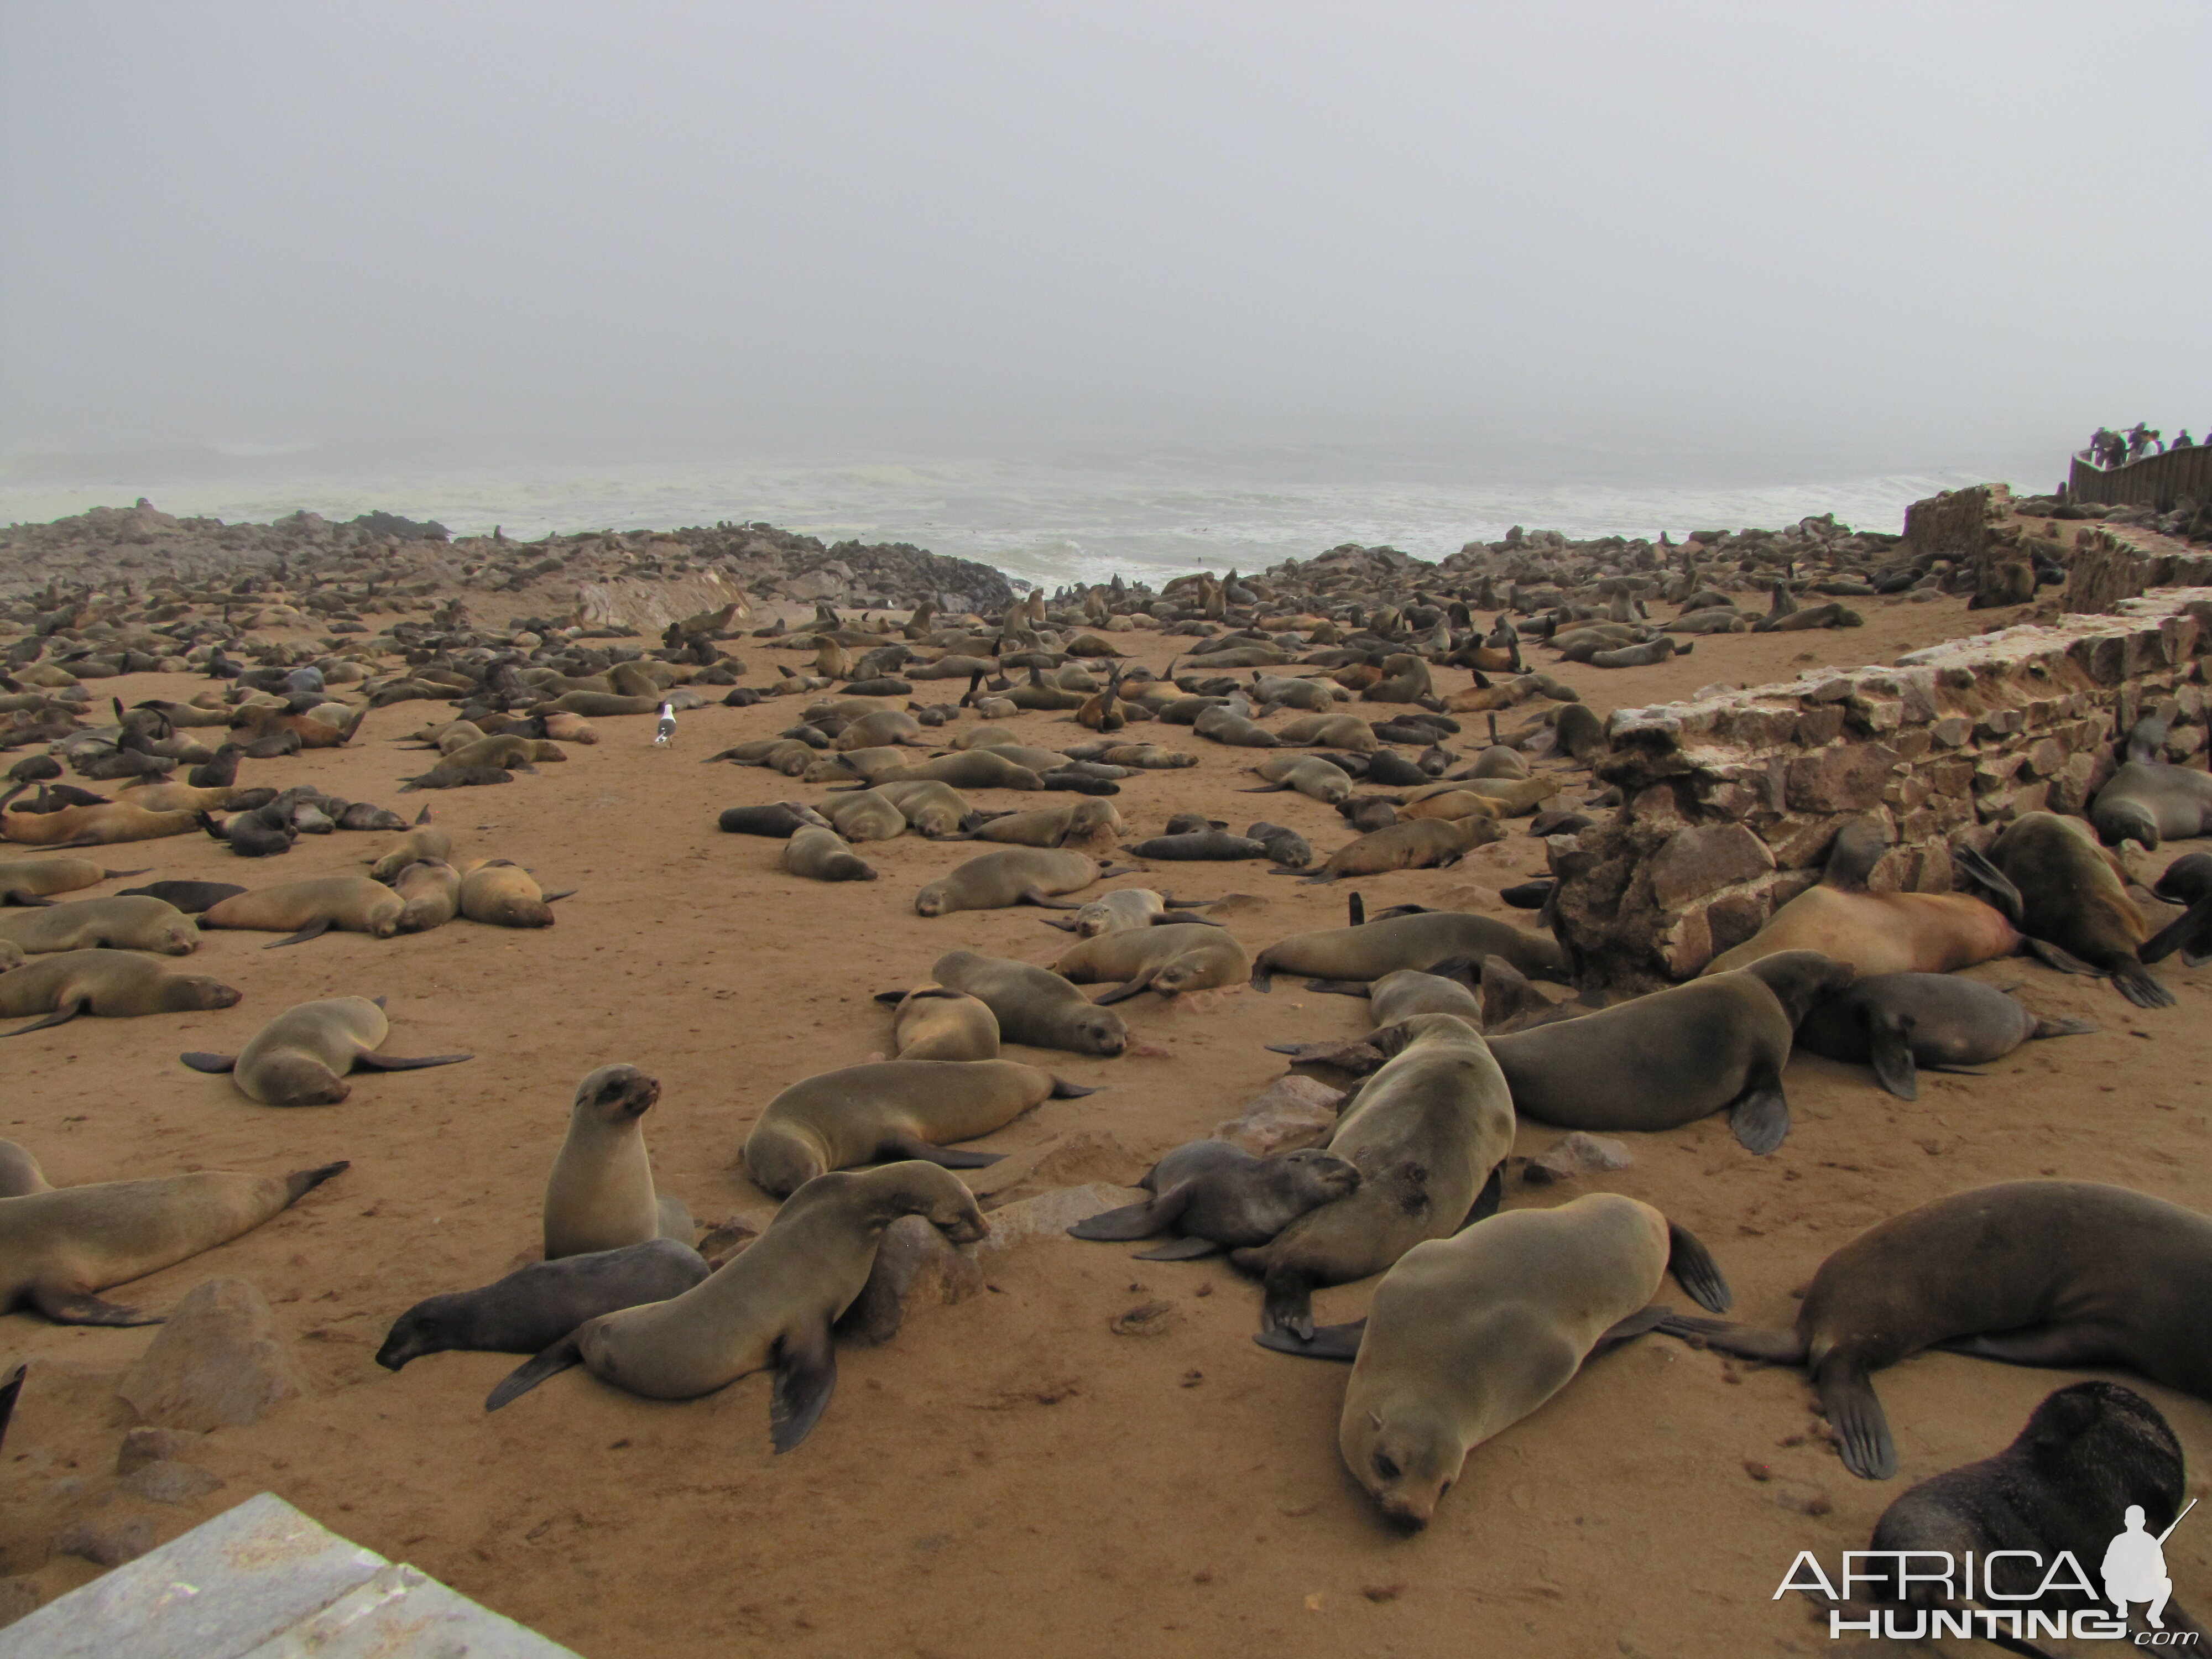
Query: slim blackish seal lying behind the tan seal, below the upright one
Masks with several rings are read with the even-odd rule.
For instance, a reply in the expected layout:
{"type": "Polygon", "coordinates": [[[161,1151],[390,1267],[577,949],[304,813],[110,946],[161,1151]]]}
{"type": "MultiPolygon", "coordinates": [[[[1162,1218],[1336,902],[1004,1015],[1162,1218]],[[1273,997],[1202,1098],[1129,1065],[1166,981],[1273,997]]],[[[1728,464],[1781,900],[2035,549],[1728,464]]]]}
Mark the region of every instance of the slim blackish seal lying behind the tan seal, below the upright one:
{"type": "Polygon", "coordinates": [[[425,1354],[542,1354],[577,1325],[624,1307],[664,1303],[706,1279],[706,1259],[679,1239],[646,1239],[622,1250],[533,1261],[482,1290],[418,1301],[376,1349],[398,1371],[425,1354]]]}

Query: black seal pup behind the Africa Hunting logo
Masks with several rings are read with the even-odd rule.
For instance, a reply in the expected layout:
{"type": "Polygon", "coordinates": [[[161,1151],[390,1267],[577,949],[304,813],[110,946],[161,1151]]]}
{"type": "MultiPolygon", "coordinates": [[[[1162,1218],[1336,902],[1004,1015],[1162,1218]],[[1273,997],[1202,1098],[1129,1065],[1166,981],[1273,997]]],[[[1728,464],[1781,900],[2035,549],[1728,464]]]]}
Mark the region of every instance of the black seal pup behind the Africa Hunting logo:
{"type": "MultiPolygon", "coordinates": [[[[1869,1548],[1947,1551],[1953,1562],[1973,1551],[1986,1573],[1980,1584],[1997,1590],[1995,1597],[1978,1590],[1982,1606],[2046,1613],[2104,1606],[2064,1584],[2037,1599],[2048,1564],[2070,1551],[2084,1573],[2097,1573],[2130,1506],[2143,1511],[2143,1528],[2157,1537],[2174,1524],[2185,1498],[2181,1442],[2159,1409],[2119,1383],[2075,1383],[2046,1396],[1995,1458],[1949,1469],[1898,1498],[1874,1524],[1869,1548]]],[[[1893,1582],[1882,1590],[1885,1601],[1953,1606],[1918,1573],[1907,1595],[1893,1582]]],[[[2197,1630],[2172,1601],[2166,1615],[2197,1630]]]]}

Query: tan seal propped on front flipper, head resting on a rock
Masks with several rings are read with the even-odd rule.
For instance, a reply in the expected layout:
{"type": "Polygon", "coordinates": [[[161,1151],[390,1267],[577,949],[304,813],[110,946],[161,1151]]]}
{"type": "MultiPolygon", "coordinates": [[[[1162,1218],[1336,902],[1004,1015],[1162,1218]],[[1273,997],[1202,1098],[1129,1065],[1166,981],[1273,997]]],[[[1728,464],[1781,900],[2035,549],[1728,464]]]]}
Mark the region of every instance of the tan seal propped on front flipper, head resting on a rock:
{"type": "Polygon", "coordinates": [[[821,1175],[708,1279],[664,1303],[586,1321],[500,1383],[484,1409],[498,1411],[571,1365],[650,1400],[692,1400],[774,1369],[768,1422],[776,1451],[790,1451],[836,1389],[830,1327],[867,1285],[883,1230],[909,1214],[956,1245],[989,1232],[973,1194],[933,1164],[821,1175]]]}

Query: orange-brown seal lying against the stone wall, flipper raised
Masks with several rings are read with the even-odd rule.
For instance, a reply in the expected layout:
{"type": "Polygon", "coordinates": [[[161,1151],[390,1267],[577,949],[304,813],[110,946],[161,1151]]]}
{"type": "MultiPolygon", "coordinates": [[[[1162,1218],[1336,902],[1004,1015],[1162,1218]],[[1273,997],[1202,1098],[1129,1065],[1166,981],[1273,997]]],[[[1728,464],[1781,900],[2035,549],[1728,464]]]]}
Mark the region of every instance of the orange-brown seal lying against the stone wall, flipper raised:
{"type": "Polygon", "coordinates": [[[1869,891],[1867,876],[1885,852],[1880,823],[1854,818],[1843,825],[1820,885],[1774,911],[1743,945],[1712,958],[1703,973],[1732,973],[1781,951],[1820,951],[1867,978],[1951,973],[2020,949],[2015,927],[1969,894],[1869,891]]]}

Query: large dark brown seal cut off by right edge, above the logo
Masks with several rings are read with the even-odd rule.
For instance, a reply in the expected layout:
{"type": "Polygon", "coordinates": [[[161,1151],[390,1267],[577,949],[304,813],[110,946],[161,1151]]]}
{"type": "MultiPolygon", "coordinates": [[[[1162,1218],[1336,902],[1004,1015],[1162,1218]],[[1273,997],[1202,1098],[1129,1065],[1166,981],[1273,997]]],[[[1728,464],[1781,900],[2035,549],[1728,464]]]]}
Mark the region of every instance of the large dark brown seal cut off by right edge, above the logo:
{"type": "Polygon", "coordinates": [[[1796,1329],[1674,1318],[1725,1354],[1803,1365],[1854,1475],[1898,1453],[1867,1380],[1942,1347],[2117,1367],[2212,1400],[2212,1219],[2093,1181],[2000,1181],[1880,1221],[1820,1263],[1796,1329]]]}

